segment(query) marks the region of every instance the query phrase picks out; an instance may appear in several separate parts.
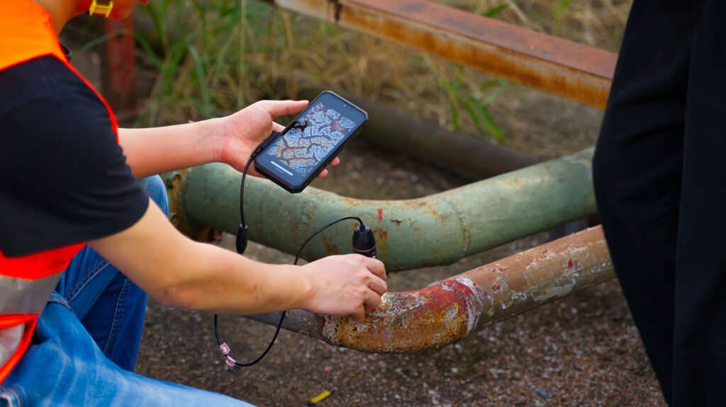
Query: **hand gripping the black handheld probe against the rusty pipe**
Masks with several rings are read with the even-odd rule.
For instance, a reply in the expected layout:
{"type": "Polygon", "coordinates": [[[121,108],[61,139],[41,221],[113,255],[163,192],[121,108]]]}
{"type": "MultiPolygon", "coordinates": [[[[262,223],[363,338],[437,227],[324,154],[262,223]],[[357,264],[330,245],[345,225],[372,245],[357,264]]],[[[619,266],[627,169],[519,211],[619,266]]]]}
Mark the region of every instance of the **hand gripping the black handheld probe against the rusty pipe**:
{"type": "Polygon", "coordinates": [[[318,314],[365,321],[365,313],[386,293],[386,268],[380,260],[359,254],[329,256],[303,266],[312,290],[303,308],[318,314]]]}

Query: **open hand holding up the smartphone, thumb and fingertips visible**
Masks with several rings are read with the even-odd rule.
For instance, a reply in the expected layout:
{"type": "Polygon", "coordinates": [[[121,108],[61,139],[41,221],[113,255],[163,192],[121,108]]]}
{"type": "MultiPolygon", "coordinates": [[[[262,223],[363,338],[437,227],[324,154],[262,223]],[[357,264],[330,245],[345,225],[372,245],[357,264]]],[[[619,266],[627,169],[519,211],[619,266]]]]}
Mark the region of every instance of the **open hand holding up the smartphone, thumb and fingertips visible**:
{"type": "MultiPolygon", "coordinates": [[[[219,119],[223,135],[220,161],[242,172],[252,152],[272,133],[272,130],[285,129],[285,126],[278,125],[273,119],[301,112],[307,104],[308,101],[258,101],[237,113],[219,119]]],[[[330,165],[338,164],[340,164],[338,157],[330,161],[330,165]]],[[[248,173],[256,177],[261,176],[254,164],[250,166],[248,173]]],[[[327,169],[323,169],[318,177],[326,175],[327,169]]]]}

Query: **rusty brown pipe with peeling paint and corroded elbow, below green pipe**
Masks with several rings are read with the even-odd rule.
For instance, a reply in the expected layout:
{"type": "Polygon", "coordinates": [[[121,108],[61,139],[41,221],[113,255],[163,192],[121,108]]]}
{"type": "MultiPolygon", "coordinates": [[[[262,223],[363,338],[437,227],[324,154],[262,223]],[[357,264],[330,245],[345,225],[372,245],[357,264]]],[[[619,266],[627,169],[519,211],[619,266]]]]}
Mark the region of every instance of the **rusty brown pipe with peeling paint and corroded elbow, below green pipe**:
{"type": "MultiPolygon", "coordinates": [[[[372,353],[441,348],[474,330],[615,277],[601,227],[531,248],[422,290],[386,293],[365,322],[287,313],[286,330],[372,353]]],[[[277,324],[278,314],[250,316],[277,324]]]]}

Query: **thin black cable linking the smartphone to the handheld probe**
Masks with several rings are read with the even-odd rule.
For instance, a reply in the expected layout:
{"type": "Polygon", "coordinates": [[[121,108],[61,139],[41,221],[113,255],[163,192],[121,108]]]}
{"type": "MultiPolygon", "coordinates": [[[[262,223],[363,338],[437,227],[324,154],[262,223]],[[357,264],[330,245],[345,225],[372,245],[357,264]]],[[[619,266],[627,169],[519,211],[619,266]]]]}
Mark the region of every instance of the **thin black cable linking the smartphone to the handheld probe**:
{"type": "MultiPolygon", "coordinates": [[[[272,136],[271,136],[272,137],[272,136]]],[[[242,222],[240,224],[240,231],[244,230],[244,245],[240,246],[240,233],[237,233],[237,252],[242,254],[244,251],[244,248],[247,247],[247,225],[245,224],[245,211],[244,211],[244,199],[245,199],[245,178],[247,177],[248,169],[250,169],[250,163],[260,154],[264,146],[259,146],[258,148],[253,151],[253,153],[250,155],[250,159],[247,161],[247,164],[245,164],[245,169],[242,170],[242,181],[240,181],[240,221],[242,222]],[[240,251],[240,247],[242,247],[242,251],[240,251]]],[[[328,227],[331,227],[335,225],[338,222],[342,222],[343,220],[347,219],[354,219],[358,221],[359,225],[363,225],[363,221],[359,217],[341,217],[339,219],[335,219],[333,222],[328,223],[327,225],[320,227],[318,230],[313,232],[300,246],[300,249],[298,250],[298,253],[295,254],[295,261],[293,264],[295,266],[298,265],[298,260],[300,259],[300,254],[302,253],[305,246],[310,243],[310,240],[312,240],[315,236],[317,236],[320,232],[323,230],[326,230],[328,227]]],[[[219,335],[219,322],[217,321],[217,314],[214,314],[214,337],[216,337],[217,345],[219,345],[219,350],[224,354],[224,357],[226,359],[226,362],[229,366],[252,366],[253,364],[256,364],[258,361],[261,361],[262,358],[264,358],[267,353],[272,349],[272,345],[274,345],[275,340],[277,340],[277,335],[280,334],[280,329],[282,329],[282,322],[285,321],[285,315],[287,314],[287,311],[282,311],[280,314],[280,322],[277,323],[277,328],[275,328],[274,335],[272,336],[272,340],[270,341],[269,345],[267,345],[267,348],[258,356],[255,360],[248,362],[248,363],[240,363],[232,356],[229,356],[229,353],[231,352],[231,349],[229,348],[229,345],[227,343],[224,343],[221,340],[221,337],[219,335]]]]}

